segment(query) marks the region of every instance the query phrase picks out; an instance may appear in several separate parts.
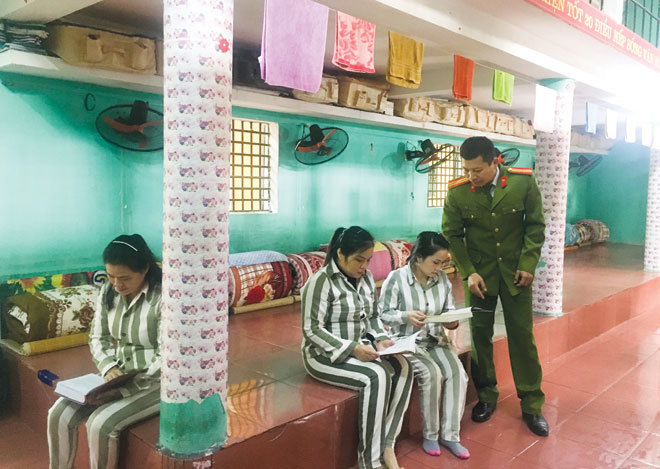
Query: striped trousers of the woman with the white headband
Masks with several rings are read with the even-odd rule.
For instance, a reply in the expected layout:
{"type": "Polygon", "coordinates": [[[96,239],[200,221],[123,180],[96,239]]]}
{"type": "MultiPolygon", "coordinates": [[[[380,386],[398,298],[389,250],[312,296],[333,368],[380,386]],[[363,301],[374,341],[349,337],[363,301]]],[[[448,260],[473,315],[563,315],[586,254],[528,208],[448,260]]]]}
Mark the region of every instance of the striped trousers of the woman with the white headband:
{"type": "Polygon", "coordinates": [[[121,431],[158,412],[159,386],[98,407],[59,398],[48,411],[50,469],[73,467],[78,447],[78,426],[85,419],[91,469],[116,468],[121,431]]]}

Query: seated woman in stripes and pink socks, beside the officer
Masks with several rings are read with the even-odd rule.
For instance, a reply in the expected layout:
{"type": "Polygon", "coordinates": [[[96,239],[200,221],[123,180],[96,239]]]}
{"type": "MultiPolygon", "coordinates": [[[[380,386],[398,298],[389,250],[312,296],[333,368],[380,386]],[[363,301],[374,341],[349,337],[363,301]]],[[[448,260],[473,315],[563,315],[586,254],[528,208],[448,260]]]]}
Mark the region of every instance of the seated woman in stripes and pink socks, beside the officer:
{"type": "Polygon", "coordinates": [[[461,459],[470,453],[460,444],[460,426],[465,409],[467,373],[451,348],[445,329],[456,329],[458,321],[425,324],[426,316],[455,309],[451,283],[442,271],[449,257],[449,244],[440,234],[424,231],[417,236],[408,264],[390,272],[380,292],[383,321],[395,337],[417,331],[417,352],[408,357],[422,407],[424,451],[440,455],[440,394],[442,393],[442,439],[440,443],[461,459]]]}

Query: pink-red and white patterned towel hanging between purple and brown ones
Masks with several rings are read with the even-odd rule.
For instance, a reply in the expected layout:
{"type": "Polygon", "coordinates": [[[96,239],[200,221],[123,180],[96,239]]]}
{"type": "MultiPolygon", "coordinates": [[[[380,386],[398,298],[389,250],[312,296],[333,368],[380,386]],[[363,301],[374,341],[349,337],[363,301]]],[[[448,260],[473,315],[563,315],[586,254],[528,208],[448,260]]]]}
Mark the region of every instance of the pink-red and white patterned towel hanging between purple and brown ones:
{"type": "Polygon", "coordinates": [[[350,72],[374,73],[376,25],[337,12],[332,63],[350,72]]]}

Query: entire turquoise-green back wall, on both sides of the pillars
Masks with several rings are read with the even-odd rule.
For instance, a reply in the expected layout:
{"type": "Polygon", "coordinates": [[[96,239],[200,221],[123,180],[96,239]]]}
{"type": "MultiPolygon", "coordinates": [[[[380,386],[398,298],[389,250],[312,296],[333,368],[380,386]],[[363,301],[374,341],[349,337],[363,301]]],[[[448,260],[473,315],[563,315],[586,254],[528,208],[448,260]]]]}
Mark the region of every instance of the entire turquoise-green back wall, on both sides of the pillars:
{"type": "MultiPolygon", "coordinates": [[[[161,255],[162,153],[134,153],[103,141],[94,127],[105,107],[162,97],[81,83],[3,74],[0,85],[0,281],[101,265],[119,233],[141,233],[161,255]],[[92,93],[96,109],[87,111],[92,93]]],[[[406,142],[440,138],[367,125],[235,108],[236,117],[279,124],[275,214],[232,214],[230,250],[299,252],[327,242],[337,226],[360,224],[378,239],[439,229],[426,207],[427,178],[403,160],[406,142]],[[293,157],[302,124],[337,125],[350,143],[333,161],[304,166],[293,157]]],[[[502,145],[502,148],[508,145],[502,145]]],[[[518,166],[533,149],[521,148],[518,166]]],[[[643,243],[648,149],[621,145],[583,178],[569,179],[568,220],[603,219],[612,240],[643,243]]]]}

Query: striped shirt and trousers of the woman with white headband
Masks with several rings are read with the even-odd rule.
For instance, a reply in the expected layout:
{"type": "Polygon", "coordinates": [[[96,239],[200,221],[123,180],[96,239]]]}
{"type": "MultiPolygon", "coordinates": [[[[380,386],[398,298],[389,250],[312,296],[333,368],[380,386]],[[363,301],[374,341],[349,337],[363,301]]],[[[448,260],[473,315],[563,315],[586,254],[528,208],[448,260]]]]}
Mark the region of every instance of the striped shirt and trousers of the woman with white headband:
{"type": "Polygon", "coordinates": [[[104,301],[109,288],[108,282],[101,289],[90,328],[92,358],[101,376],[114,366],[141,372],[119,388],[119,400],[94,406],[60,398],[53,404],[48,411],[51,469],[73,467],[78,426],[85,419],[91,468],[116,468],[121,431],[160,411],[160,287],[145,285],[130,304],[116,295],[111,308],[104,301]]]}

